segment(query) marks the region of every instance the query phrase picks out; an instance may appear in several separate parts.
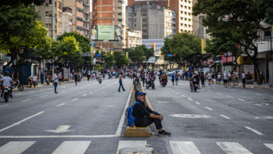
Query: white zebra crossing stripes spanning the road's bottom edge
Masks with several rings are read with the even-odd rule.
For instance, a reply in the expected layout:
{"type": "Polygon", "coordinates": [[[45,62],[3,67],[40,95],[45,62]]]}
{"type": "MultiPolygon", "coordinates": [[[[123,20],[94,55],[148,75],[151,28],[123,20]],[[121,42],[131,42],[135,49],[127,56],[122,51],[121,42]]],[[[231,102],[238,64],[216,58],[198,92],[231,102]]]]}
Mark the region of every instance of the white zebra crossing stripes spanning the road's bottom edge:
{"type": "MultiPolygon", "coordinates": [[[[9,141],[8,143],[0,146],[0,153],[5,153],[5,154],[24,153],[31,146],[35,146],[37,142],[38,141],[9,141]]],[[[202,150],[204,149],[204,147],[198,148],[198,146],[196,146],[196,144],[193,141],[167,141],[167,142],[169,144],[170,149],[172,150],[172,151],[168,151],[168,153],[173,153],[173,154],[202,154],[202,152],[206,153],[205,151],[202,151],[202,152],[200,151],[200,149],[202,150]]],[[[63,141],[62,144],[60,144],[55,150],[53,150],[52,154],[85,153],[87,151],[87,148],[92,148],[91,143],[92,141],[63,141]]],[[[118,154],[118,151],[120,150],[120,148],[146,146],[146,144],[149,144],[149,142],[128,141],[128,140],[118,141],[118,149],[116,150],[113,149],[113,151],[116,151],[115,153],[118,154]]],[[[156,145],[153,146],[153,144],[151,144],[151,146],[157,147],[156,145]]],[[[220,147],[223,153],[227,153],[227,154],[254,154],[251,151],[248,151],[247,148],[245,148],[238,142],[216,142],[215,146],[220,147]]],[[[257,148],[258,146],[263,146],[264,149],[268,148],[267,151],[271,151],[273,153],[273,144],[265,143],[262,145],[257,145],[257,148]]],[[[41,148],[37,148],[37,149],[38,150],[35,153],[38,153],[39,151],[42,150],[41,148]]],[[[104,149],[102,148],[102,153],[103,151],[104,149]]]]}

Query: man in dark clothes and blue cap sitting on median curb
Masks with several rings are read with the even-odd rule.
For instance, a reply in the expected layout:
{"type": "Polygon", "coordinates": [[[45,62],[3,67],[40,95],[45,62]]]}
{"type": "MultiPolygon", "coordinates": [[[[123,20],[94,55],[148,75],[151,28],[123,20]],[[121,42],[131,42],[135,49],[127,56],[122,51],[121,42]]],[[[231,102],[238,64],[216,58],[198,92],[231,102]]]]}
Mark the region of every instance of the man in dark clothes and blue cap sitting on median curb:
{"type": "Polygon", "coordinates": [[[163,115],[152,111],[145,103],[145,92],[139,92],[137,94],[137,101],[140,103],[134,104],[132,111],[132,116],[136,118],[134,120],[134,125],[137,127],[147,127],[151,123],[155,123],[155,127],[158,130],[159,135],[170,136],[171,133],[166,132],[162,129],[161,121],[163,120],[163,115]]]}

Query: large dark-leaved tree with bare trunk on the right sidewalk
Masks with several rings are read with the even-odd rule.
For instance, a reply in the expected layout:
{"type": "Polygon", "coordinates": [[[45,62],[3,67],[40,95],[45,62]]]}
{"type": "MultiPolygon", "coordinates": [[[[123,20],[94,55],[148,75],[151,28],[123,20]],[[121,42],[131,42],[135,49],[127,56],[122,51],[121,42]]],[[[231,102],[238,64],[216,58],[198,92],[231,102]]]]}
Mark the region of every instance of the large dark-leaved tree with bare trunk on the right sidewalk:
{"type": "Polygon", "coordinates": [[[260,84],[258,48],[254,40],[258,40],[258,31],[263,29],[260,22],[267,18],[265,8],[260,7],[260,1],[197,0],[193,6],[193,15],[201,13],[206,14],[202,23],[208,27],[211,36],[228,38],[240,45],[246,55],[251,57],[255,67],[255,75],[260,84]]]}

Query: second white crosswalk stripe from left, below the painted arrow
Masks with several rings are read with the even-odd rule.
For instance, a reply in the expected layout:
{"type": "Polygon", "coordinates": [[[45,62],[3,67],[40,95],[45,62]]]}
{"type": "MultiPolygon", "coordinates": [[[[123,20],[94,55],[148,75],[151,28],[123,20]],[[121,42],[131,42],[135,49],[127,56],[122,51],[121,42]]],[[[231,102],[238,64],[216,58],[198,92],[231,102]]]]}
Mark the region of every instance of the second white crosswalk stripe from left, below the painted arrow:
{"type": "Polygon", "coordinates": [[[85,153],[91,141],[64,141],[52,154],[85,153]]]}

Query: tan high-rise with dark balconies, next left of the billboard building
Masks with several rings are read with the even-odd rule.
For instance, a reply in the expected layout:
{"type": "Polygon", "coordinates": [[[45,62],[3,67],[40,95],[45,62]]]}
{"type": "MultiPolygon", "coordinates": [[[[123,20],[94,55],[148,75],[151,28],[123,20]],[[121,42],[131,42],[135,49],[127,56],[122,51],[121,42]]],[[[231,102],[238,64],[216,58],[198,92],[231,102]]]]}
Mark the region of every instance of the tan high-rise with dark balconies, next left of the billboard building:
{"type": "Polygon", "coordinates": [[[89,38],[89,0],[63,0],[63,4],[72,9],[72,31],[89,38]]]}

